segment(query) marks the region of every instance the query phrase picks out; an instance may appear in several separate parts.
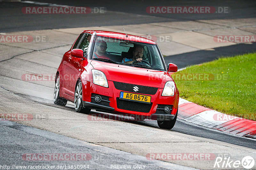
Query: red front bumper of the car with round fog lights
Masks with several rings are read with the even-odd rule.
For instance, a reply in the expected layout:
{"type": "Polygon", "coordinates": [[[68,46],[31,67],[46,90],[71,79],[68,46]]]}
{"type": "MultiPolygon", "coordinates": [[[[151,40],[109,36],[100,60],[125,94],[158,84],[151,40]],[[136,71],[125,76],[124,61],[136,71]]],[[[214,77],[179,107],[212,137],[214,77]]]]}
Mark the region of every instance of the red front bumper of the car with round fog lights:
{"type": "MultiPolygon", "coordinates": [[[[108,88],[98,86],[90,81],[83,82],[83,105],[84,107],[95,109],[103,112],[116,113],[116,114],[131,114],[131,115],[143,115],[151,117],[154,120],[173,120],[178,109],[179,94],[174,96],[161,96],[163,89],[159,88],[154,95],[151,96],[151,103],[145,104],[140,102],[130,102],[119,99],[120,92],[124,90],[118,90],[115,88],[113,81],[108,81],[108,88]],[[94,96],[100,95],[104,102],[95,102],[94,96]],[[120,105],[120,101],[122,102],[120,105]],[[119,103],[118,103],[119,102],[119,103]],[[122,104],[130,103],[130,105],[123,107],[122,104]],[[146,106],[148,105],[148,106],[146,106]],[[150,105],[150,106],[149,106],[150,105]],[[170,112],[165,113],[161,107],[168,105],[171,107],[170,112]],[[120,107],[122,106],[122,107],[120,107]],[[140,111],[136,111],[133,106],[139,108],[140,111]],[[145,110],[141,110],[141,107],[147,107],[145,110]],[[121,109],[124,108],[124,109],[121,109]]],[[[139,93],[138,93],[139,94],[139,93]]],[[[145,94],[143,94],[145,95],[145,94]]]]}

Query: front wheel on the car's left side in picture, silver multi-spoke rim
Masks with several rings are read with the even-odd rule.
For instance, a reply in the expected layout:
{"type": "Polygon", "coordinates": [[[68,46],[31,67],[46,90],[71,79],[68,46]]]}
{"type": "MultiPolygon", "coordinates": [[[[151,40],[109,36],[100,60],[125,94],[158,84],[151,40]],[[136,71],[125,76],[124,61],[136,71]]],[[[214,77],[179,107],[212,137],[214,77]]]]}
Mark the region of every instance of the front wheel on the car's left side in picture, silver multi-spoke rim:
{"type": "Polygon", "coordinates": [[[79,113],[89,114],[91,109],[85,108],[83,106],[82,96],[83,96],[82,81],[79,80],[75,88],[75,96],[74,96],[75,110],[76,112],[79,112],[79,113]]]}

